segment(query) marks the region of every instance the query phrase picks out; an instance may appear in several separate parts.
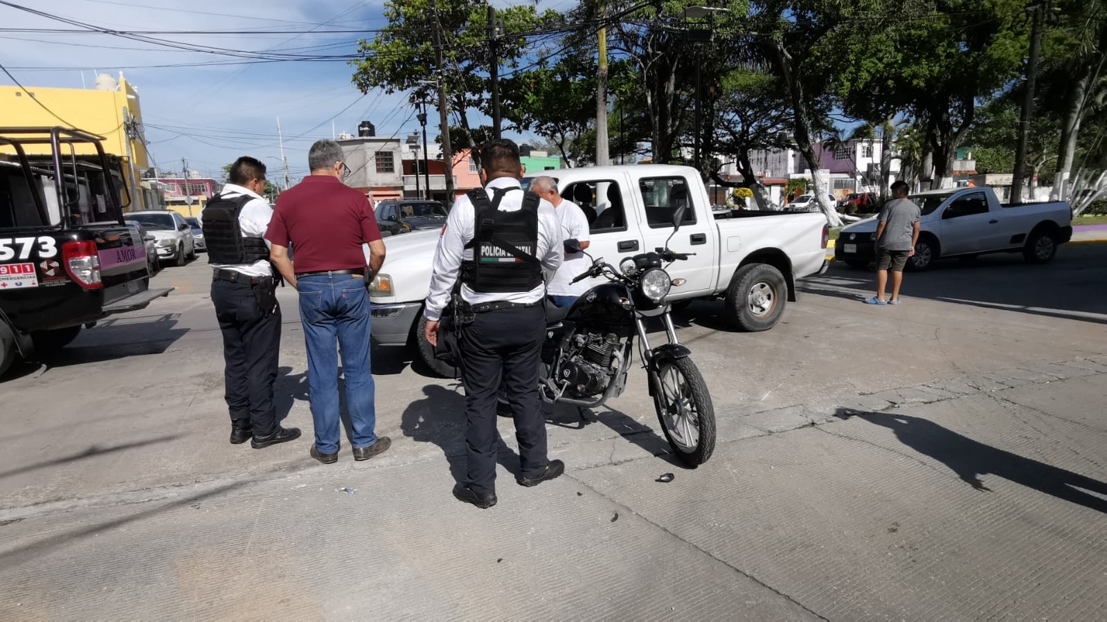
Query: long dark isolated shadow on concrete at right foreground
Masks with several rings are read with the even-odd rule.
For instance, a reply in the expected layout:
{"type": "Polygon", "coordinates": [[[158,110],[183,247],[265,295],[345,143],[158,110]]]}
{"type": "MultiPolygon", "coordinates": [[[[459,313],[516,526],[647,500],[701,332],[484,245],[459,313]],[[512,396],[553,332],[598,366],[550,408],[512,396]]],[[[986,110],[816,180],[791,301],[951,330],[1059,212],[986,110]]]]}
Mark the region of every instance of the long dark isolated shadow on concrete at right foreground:
{"type": "Polygon", "coordinates": [[[980,480],[995,475],[1058,499],[1107,512],[1107,484],[1011,452],[996,449],[948,429],[934,422],[891,413],[838,408],[840,419],[857,417],[896,433],[900,443],[930,456],[958,474],[976,490],[991,493],[980,480]],[[1099,497],[1097,495],[1101,495],[1099,497]]]}

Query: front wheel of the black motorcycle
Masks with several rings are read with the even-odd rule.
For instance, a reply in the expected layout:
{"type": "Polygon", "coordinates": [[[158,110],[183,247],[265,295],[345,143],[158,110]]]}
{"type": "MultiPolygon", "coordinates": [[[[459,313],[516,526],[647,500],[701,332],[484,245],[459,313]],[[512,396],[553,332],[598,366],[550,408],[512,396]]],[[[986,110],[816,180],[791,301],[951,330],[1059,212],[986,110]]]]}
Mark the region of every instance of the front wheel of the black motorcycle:
{"type": "Polygon", "coordinates": [[[715,408],[707,384],[691,359],[662,361],[656,373],[653,404],[661,429],[676,457],[697,467],[715,450],[715,408]]]}

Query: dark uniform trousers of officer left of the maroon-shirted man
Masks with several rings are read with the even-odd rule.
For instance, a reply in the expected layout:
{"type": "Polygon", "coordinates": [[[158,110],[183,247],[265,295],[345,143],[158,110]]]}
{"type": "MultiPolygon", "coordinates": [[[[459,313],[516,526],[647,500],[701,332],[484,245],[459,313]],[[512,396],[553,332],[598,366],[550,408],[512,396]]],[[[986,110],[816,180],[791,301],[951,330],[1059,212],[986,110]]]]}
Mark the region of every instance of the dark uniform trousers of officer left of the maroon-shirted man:
{"type": "Polygon", "coordinates": [[[255,436],[277,427],[273,382],[280,352],[280,305],[261,311],[249,283],[211,281],[211,302],[223,331],[224,397],[231,419],[249,419],[255,436]]]}

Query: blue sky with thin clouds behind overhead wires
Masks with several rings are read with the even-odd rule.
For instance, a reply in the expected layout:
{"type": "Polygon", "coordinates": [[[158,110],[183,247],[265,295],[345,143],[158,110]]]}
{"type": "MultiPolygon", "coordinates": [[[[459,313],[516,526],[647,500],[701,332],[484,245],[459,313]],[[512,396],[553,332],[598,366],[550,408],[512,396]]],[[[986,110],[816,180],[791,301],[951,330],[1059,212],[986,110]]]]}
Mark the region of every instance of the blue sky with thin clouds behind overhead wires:
{"type": "MultiPolygon", "coordinates": [[[[356,52],[356,41],[372,34],[325,33],[325,30],[372,30],[386,25],[381,0],[12,0],[24,7],[122,31],[258,31],[249,34],[152,34],[193,45],[244,51],[284,50],[303,54],[356,52]],[[296,31],[271,33],[265,30],[296,31]]],[[[517,1],[497,1],[504,7],[517,1]]],[[[567,9],[568,0],[542,0],[539,7],[567,9]]],[[[72,29],[44,17],[0,6],[3,29],[72,29]]],[[[102,33],[0,32],[0,64],[24,86],[91,87],[95,73],[124,76],[138,89],[146,138],[163,169],[189,169],[221,178],[224,164],[252,155],[279,179],[280,117],[292,182],[307,173],[307,152],[318,138],[337,132],[356,133],[369,120],[379,136],[405,136],[418,128],[414,108],[403,93],[381,90],[362,94],[350,81],[343,60],[227,63],[224,55],[182,51],[102,33]]],[[[0,83],[11,81],[0,73],[0,83]]],[[[427,111],[431,123],[436,110],[427,111]]],[[[472,114],[472,112],[470,112],[472,114]]],[[[479,117],[476,117],[479,118],[479,117]]],[[[428,137],[437,135],[428,124],[428,137]]],[[[433,138],[432,138],[433,139],[433,138]]]]}

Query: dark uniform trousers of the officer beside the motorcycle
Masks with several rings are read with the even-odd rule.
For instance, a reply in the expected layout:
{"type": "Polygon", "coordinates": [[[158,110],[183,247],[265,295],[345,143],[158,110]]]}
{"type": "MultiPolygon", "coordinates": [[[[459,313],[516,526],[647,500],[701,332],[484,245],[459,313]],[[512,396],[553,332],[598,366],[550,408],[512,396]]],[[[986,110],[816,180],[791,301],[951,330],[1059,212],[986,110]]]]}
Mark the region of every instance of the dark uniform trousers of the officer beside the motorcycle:
{"type": "Polygon", "coordinates": [[[524,477],[537,477],[546,456],[546,422],[538,397],[538,365],[546,336],[546,312],[539,307],[477,313],[461,330],[462,380],[465,383],[465,485],[479,494],[496,491],[496,393],[503,380],[515,415],[515,436],[524,477]]]}

